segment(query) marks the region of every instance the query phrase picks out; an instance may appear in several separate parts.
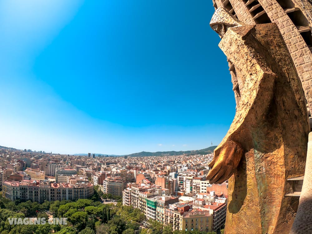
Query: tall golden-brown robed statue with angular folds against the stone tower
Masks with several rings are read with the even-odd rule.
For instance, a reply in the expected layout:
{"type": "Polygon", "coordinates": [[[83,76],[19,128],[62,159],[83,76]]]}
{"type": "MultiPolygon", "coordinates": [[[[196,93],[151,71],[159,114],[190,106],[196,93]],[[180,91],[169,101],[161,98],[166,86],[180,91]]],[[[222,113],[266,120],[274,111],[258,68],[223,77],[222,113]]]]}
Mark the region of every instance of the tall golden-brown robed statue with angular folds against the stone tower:
{"type": "Polygon", "coordinates": [[[220,35],[236,115],[215,149],[210,183],[229,179],[226,234],[288,234],[299,199],[288,178],[303,176],[309,134],[305,96],[275,23],[246,25],[222,7],[210,26],[220,35]]]}

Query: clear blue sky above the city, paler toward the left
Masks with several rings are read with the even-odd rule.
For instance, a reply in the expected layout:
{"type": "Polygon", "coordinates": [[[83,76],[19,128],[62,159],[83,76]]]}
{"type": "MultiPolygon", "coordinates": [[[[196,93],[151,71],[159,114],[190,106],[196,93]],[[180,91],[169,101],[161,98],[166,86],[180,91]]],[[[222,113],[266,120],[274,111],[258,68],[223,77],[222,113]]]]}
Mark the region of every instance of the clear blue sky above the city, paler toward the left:
{"type": "Polygon", "coordinates": [[[0,2],[0,145],[131,154],[217,145],[235,114],[212,1],[0,2]]]}

